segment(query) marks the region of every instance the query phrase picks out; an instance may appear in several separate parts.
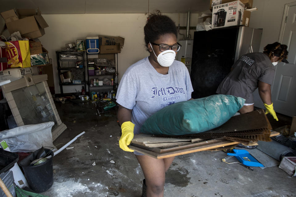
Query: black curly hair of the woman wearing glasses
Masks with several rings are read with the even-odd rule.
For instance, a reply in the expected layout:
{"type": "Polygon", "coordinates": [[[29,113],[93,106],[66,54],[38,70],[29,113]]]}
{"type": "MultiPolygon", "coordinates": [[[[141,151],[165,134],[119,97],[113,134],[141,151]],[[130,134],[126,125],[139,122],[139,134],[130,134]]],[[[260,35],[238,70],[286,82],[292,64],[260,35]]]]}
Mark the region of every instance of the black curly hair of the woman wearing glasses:
{"type": "Polygon", "coordinates": [[[144,26],[144,40],[147,50],[149,50],[149,41],[154,42],[160,35],[171,33],[178,37],[177,27],[170,17],[162,15],[159,11],[154,14],[149,14],[146,25],[144,26]]]}

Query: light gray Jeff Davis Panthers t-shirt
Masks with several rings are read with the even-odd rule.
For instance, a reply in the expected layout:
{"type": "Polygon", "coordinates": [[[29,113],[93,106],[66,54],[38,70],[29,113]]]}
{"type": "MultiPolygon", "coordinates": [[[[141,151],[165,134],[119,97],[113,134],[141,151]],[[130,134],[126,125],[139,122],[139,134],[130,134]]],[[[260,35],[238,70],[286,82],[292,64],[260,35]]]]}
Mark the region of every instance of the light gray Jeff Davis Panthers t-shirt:
{"type": "Polygon", "coordinates": [[[169,67],[168,74],[158,73],[148,57],[130,66],[121,78],[116,101],[132,109],[134,133],[152,114],[163,107],[187,101],[193,88],[186,66],[177,60],[169,67]]]}

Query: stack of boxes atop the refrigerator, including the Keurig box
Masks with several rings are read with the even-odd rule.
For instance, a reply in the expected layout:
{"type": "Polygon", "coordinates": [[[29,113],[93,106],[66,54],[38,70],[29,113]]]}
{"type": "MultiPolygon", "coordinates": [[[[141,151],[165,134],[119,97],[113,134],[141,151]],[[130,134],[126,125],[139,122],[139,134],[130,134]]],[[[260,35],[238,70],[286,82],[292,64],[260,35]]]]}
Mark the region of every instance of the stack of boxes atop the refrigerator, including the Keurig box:
{"type": "Polygon", "coordinates": [[[212,29],[219,27],[244,25],[249,26],[253,0],[210,0],[212,10],[212,29]]]}

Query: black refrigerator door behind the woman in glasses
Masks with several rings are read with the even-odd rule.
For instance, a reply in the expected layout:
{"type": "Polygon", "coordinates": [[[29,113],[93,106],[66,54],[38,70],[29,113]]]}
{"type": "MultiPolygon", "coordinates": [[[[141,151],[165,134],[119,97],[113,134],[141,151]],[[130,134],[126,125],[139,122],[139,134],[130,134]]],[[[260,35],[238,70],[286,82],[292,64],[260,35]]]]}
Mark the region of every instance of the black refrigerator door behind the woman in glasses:
{"type": "Polygon", "coordinates": [[[234,63],[239,27],[195,31],[192,50],[192,98],[216,94],[234,63]]]}

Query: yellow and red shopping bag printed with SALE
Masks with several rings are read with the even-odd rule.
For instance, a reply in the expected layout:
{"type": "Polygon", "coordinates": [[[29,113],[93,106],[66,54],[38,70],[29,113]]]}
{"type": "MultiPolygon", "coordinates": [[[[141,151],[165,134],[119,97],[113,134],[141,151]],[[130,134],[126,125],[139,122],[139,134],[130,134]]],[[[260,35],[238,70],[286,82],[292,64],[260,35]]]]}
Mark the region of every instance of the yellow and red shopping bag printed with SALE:
{"type": "Polygon", "coordinates": [[[26,68],[31,67],[30,46],[28,40],[18,40],[5,42],[7,67],[26,68]]]}

